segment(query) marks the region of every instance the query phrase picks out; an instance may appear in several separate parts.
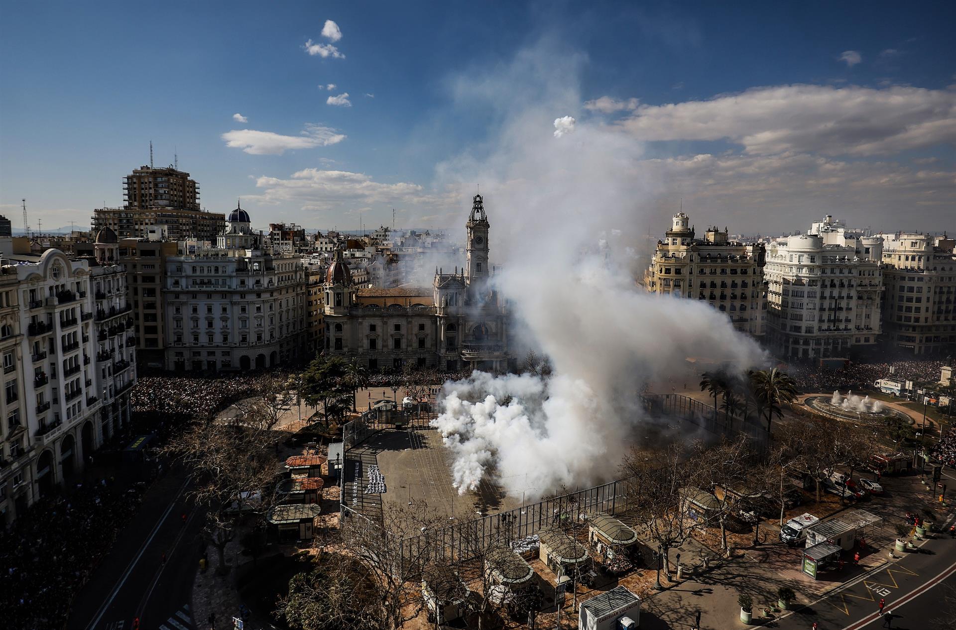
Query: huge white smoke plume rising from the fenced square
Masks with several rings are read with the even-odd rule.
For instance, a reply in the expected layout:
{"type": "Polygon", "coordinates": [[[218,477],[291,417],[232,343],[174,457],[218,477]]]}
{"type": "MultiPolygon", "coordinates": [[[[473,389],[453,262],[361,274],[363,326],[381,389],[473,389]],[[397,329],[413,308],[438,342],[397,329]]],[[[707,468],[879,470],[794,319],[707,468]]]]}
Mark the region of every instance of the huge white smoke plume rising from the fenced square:
{"type": "Polygon", "coordinates": [[[640,142],[582,118],[586,59],[555,41],[456,83],[462,103],[484,102],[501,122],[489,154],[442,164],[440,179],[482,183],[491,260],[504,265],[494,283],[511,305],[512,331],[554,368],[549,380],[476,372],[445,383],[434,424],[460,492],[488,475],[512,495],[609,478],[641,433],[643,383],[686,379],[687,358],[764,360],[726,315],[635,285],[642,234],[669,226],[673,210],[656,210],[665,183],[644,176],[640,142]],[[494,98],[501,94],[510,98],[494,98]],[[554,113],[568,111],[575,133],[558,134],[554,113]]]}

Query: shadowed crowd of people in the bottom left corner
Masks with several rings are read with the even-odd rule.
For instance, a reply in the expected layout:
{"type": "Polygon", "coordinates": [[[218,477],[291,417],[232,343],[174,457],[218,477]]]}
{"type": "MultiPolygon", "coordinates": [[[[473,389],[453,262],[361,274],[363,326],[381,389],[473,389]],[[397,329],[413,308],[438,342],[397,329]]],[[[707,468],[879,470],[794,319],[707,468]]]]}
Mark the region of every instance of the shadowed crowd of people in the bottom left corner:
{"type": "Polygon", "coordinates": [[[68,498],[43,499],[0,528],[0,609],[5,628],[59,628],[99,560],[136,512],[142,487],[87,481],[68,498]]]}

